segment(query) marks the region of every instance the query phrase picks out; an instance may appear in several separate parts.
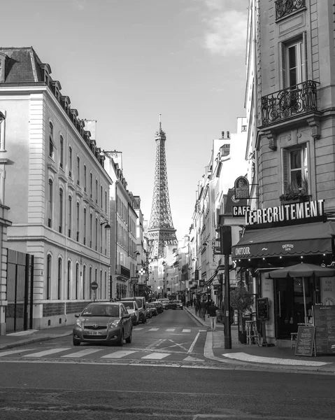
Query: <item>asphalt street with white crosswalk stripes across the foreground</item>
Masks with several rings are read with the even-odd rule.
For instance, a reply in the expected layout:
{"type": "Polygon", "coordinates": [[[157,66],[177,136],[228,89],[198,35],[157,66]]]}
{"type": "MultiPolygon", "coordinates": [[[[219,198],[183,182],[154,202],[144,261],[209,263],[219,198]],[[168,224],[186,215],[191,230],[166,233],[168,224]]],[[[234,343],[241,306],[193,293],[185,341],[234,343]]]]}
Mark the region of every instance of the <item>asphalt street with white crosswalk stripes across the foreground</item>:
{"type": "Polygon", "coordinates": [[[168,310],[122,349],[75,348],[68,336],[1,351],[1,419],[335,418],[334,376],[232,370],[204,358],[205,339],[168,310]]]}

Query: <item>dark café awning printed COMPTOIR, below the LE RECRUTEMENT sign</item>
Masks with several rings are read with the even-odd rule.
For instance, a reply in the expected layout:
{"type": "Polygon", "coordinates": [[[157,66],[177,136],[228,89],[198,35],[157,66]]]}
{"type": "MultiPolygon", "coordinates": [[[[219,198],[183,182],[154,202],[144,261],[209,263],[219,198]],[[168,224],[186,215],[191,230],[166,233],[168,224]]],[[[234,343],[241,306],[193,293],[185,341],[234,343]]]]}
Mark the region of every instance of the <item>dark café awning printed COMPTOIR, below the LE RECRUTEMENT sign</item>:
{"type": "Polygon", "coordinates": [[[335,222],[247,230],[231,248],[233,260],[332,253],[335,222]]]}

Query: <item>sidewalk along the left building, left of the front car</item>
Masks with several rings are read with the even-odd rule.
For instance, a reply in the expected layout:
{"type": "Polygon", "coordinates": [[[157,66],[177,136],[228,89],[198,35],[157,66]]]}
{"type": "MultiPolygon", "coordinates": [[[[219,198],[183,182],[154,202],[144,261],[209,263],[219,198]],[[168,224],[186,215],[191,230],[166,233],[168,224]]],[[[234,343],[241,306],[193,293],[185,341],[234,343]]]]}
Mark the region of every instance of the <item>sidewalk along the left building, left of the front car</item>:
{"type": "Polygon", "coordinates": [[[8,335],[0,335],[0,350],[13,349],[13,347],[24,346],[36,342],[43,342],[48,339],[65,337],[71,335],[73,325],[62,327],[47,328],[45,330],[27,330],[13,332],[8,335]]]}

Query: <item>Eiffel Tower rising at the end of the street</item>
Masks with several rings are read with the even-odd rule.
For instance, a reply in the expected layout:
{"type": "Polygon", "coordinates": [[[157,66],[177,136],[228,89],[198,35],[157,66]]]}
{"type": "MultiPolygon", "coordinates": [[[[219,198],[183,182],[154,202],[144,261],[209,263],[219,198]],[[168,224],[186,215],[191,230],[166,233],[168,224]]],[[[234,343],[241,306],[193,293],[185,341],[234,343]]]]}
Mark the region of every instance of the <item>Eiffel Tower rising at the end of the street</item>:
{"type": "Polygon", "coordinates": [[[159,130],[155,134],[155,185],[148,228],[150,258],[152,259],[164,258],[166,256],[166,246],[178,245],[176,229],[173,228],[170,209],[165,140],[166,136],[162,130],[161,114],[159,114],[159,130]]]}

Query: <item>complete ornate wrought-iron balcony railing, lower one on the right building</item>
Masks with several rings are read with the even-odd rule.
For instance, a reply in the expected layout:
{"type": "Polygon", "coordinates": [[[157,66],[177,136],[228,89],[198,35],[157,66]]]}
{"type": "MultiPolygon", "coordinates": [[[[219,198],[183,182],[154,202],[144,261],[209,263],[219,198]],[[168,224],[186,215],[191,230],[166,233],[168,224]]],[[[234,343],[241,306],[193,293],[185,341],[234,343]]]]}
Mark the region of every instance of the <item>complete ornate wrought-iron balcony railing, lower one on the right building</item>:
{"type": "Polygon", "coordinates": [[[316,82],[306,80],[262,97],[262,125],[318,111],[316,82]]]}

